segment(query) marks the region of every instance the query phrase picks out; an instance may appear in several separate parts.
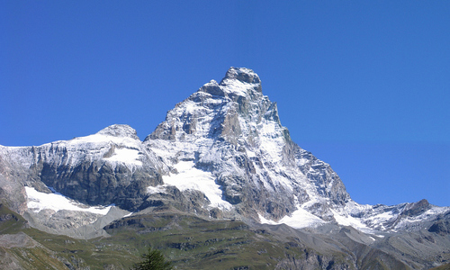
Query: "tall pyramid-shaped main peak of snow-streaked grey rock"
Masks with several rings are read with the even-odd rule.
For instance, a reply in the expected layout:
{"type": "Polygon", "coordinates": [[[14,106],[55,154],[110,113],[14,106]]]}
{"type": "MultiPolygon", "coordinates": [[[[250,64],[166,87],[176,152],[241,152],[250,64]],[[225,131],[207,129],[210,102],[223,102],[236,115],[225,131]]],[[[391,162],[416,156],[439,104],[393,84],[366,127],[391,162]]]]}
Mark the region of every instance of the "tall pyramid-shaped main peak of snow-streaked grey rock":
{"type": "Polygon", "coordinates": [[[328,164],[293,143],[251,69],[231,67],[220,84],[203,85],[144,142],[172,174],[185,162],[211,173],[223,199],[253,218],[301,206],[324,215],[350,199],[328,164]]]}

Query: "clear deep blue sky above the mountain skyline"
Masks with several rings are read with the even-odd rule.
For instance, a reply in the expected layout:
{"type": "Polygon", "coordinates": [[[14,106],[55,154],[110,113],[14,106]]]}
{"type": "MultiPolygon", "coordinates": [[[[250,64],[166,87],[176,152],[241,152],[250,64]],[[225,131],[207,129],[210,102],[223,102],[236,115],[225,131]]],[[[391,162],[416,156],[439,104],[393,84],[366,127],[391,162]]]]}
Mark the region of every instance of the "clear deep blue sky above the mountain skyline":
{"type": "Polygon", "coordinates": [[[356,202],[450,206],[449,1],[0,1],[0,144],[141,139],[249,67],[356,202]]]}

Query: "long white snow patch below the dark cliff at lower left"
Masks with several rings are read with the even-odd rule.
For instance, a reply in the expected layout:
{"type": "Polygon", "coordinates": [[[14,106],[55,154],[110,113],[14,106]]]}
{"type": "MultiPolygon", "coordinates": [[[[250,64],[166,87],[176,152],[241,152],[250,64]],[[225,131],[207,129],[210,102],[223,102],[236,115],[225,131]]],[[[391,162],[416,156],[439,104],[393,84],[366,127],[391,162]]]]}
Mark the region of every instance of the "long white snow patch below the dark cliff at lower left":
{"type": "Polygon", "coordinates": [[[25,191],[28,196],[27,206],[34,212],[51,209],[53,211],[89,211],[95,214],[105,215],[112,207],[112,205],[107,207],[87,207],[82,203],[70,201],[66,196],[60,193],[40,193],[29,186],[25,186],[25,191]]]}

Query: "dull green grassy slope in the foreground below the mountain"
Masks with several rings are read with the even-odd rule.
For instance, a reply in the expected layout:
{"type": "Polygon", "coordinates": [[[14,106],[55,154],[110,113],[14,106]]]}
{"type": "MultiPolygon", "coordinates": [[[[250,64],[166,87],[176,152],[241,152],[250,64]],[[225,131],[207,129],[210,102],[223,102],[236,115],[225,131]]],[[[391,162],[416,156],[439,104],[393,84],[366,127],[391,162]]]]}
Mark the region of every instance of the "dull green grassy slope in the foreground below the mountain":
{"type": "MultiPolygon", "coordinates": [[[[329,264],[294,239],[280,239],[236,220],[149,213],[112,222],[105,227],[111,237],[80,240],[32,229],[20,215],[0,206],[0,217],[6,216],[0,221],[0,239],[13,238],[17,244],[0,241],[0,268],[128,269],[148,247],[160,249],[176,269],[275,269],[307,261],[321,268],[329,264]]],[[[343,254],[334,257],[333,264],[347,265],[343,254]]]]}

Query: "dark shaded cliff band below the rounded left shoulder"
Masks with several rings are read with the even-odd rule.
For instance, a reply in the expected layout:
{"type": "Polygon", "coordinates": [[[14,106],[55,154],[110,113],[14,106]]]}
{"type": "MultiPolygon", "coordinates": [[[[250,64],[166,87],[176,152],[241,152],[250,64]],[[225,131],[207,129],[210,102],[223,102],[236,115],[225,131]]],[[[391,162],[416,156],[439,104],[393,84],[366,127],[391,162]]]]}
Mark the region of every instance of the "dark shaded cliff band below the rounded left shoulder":
{"type": "Polygon", "coordinates": [[[116,204],[136,211],[147,197],[150,185],[162,184],[156,172],[130,171],[127,166],[103,164],[98,167],[85,162],[78,166],[42,165],[40,179],[70,198],[91,205],[116,204]]]}

